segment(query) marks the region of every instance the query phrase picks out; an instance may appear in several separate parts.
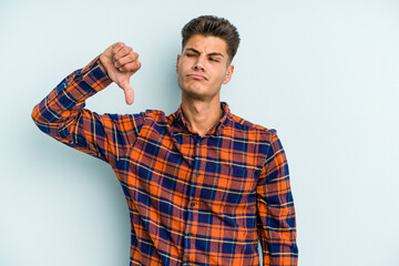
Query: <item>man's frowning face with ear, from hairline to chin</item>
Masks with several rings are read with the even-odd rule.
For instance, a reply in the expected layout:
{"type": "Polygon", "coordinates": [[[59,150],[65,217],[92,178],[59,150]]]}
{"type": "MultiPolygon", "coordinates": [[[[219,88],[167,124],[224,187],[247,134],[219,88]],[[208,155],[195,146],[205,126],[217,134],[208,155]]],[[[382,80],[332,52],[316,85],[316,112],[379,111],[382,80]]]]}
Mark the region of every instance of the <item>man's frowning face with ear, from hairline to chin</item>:
{"type": "Polygon", "coordinates": [[[177,55],[177,83],[184,96],[201,101],[218,100],[222,84],[233,74],[227,43],[218,37],[191,37],[177,55]]]}

